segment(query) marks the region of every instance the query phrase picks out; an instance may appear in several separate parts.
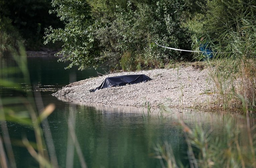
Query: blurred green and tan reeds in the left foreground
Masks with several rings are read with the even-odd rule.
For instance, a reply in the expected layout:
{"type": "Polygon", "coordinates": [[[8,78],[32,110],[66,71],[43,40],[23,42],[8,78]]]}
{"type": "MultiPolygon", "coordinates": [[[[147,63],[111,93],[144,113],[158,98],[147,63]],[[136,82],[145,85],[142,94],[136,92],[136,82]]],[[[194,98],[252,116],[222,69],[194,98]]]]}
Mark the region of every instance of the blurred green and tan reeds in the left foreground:
{"type": "MultiPolygon", "coordinates": [[[[16,84],[0,78],[1,87],[11,87],[16,91],[25,92],[23,94],[25,96],[12,97],[11,101],[10,99],[0,96],[0,167],[17,167],[14,154],[15,152],[13,151],[12,146],[15,145],[14,143],[18,142],[27,149],[30,155],[38,162],[38,166],[40,168],[58,168],[59,164],[47,120],[47,117],[55,110],[55,105],[51,103],[44,107],[40,93],[32,92],[33,88],[30,85],[26,53],[21,43],[19,43],[19,46],[19,53],[12,53],[13,59],[17,65],[16,68],[19,69],[19,71],[15,71],[15,73],[22,74],[22,83],[27,85],[27,89],[24,91],[22,89],[22,84],[16,84]],[[10,106],[18,106],[22,108],[22,110],[18,111],[17,109],[12,109],[10,106]],[[7,122],[15,122],[16,124],[31,127],[34,131],[35,143],[29,141],[26,135],[24,135],[22,139],[17,139],[15,142],[12,142],[11,135],[9,135],[8,125],[6,124],[7,122]]],[[[84,161],[84,156],[81,152],[81,148],[75,134],[75,123],[72,122],[72,116],[69,121],[68,132],[71,137],[69,147],[73,146],[76,149],[80,166],[86,168],[87,166],[84,161]]],[[[73,163],[72,160],[73,158],[68,158],[67,165],[70,166],[70,163],[73,163]]],[[[71,165],[71,167],[72,166],[73,165],[71,165]]]]}

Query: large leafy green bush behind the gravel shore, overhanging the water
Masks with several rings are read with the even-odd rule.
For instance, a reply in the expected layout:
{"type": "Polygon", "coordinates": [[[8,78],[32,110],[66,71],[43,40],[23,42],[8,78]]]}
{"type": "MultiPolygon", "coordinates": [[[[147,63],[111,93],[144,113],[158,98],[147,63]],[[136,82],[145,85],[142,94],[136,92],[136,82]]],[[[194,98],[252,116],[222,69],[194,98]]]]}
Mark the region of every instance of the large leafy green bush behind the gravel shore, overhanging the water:
{"type": "Polygon", "coordinates": [[[184,1],[70,1],[52,5],[65,22],[64,29],[46,31],[46,41],[63,41],[63,61],[80,69],[108,61],[119,64],[132,52],[137,67],[163,67],[170,59],[187,59],[179,51],[158,47],[154,42],[187,49],[189,34],[180,26],[184,1]]]}

